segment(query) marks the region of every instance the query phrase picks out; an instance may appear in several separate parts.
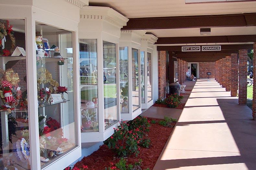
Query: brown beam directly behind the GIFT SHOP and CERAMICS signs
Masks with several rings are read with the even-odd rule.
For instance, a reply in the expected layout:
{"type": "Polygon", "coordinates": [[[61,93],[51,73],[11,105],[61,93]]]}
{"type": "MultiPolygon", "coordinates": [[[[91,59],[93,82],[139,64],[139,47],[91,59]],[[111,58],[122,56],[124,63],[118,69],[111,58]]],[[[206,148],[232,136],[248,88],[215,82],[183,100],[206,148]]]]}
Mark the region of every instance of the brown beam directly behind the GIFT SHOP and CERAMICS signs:
{"type": "MultiPolygon", "coordinates": [[[[186,46],[186,45],[183,45],[186,46]]],[[[181,51],[181,45],[176,46],[157,46],[157,51],[181,51]]],[[[232,44],[221,45],[221,50],[239,50],[239,49],[253,49],[253,44],[232,44]]]]}

